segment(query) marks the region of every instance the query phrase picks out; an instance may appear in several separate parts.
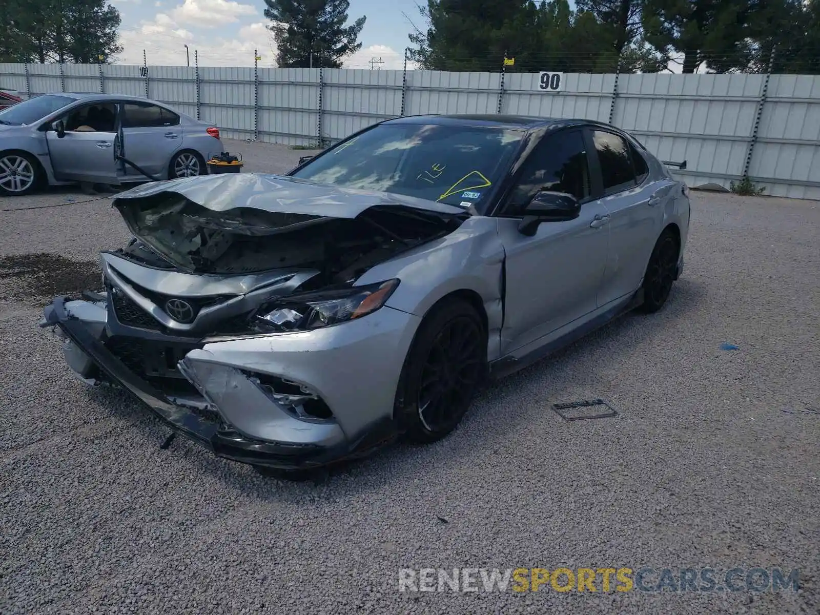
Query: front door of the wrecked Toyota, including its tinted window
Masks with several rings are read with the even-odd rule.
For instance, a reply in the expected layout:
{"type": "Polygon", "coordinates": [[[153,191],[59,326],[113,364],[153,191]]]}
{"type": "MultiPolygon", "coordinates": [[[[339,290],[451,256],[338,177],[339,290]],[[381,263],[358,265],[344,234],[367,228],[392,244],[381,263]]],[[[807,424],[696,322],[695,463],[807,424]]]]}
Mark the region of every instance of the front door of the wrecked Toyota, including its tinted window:
{"type": "Polygon", "coordinates": [[[594,199],[581,130],[541,141],[527,157],[499,217],[506,253],[502,353],[549,335],[593,312],[608,250],[607,210],[594,199]],[[523,208],[539,190],[572,194],[575,220],[544,222],[532,237],[518,231],[523,208]]]}

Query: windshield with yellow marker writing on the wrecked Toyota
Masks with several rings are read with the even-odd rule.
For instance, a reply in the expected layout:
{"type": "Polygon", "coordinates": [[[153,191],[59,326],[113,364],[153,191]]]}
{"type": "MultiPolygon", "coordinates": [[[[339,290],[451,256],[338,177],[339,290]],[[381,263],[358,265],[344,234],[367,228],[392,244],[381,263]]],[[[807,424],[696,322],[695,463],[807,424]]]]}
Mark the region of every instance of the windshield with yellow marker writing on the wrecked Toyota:
{"type": "Polygon", "coordinates": [[[495,126],[380,124],[293,176],[470,207],[503,177],[524,134],[495,126]]]}

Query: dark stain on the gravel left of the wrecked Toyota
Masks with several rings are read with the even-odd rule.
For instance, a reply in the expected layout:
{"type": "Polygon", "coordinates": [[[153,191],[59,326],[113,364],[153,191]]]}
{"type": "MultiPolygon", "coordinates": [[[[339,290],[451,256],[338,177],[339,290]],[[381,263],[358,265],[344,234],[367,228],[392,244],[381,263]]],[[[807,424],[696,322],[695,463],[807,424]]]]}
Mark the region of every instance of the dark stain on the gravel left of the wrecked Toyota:
{"type": "Polygon", "coordinates": [[[0,258],[0,298],[47,304],[57,294],[78,295],[98,289],[97,261],[75,261],[58,254],[17,254],[0,258]]]}

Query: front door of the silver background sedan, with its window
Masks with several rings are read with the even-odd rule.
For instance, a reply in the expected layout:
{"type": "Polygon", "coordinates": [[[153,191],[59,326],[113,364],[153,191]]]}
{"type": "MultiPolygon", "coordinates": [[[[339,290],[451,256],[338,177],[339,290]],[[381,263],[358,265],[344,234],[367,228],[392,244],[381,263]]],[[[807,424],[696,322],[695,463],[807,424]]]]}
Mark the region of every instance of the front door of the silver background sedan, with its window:
{"type": "Polygon", "coordinates": [[[114,103],[80,105],[59,118],[66,128],[62,138],[55,130],[46,132],[48,155],[57,180],[119,183],[116,113],[114,103]]]}

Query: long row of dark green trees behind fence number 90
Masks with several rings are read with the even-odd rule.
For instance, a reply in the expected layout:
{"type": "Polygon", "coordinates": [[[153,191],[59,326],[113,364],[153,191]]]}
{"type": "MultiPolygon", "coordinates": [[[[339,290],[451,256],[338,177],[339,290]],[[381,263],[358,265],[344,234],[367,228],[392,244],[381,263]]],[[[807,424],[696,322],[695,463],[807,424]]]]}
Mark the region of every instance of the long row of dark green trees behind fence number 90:
{"type": "Polygon", "coordinates": [[[436,71],[820,73],[820,0],[426,0],[410,58],[436,71]]]}

